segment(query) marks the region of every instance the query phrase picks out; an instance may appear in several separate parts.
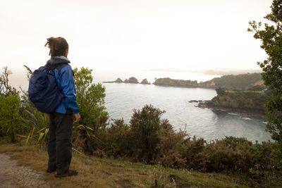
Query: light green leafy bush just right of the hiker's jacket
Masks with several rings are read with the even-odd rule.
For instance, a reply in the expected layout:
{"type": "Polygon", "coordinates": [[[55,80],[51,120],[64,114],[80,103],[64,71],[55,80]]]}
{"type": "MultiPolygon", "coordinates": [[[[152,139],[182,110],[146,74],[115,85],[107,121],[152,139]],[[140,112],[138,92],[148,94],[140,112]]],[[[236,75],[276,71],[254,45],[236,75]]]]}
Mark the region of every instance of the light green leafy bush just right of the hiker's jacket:
{"type": "Polygon", "coordinates": [[[76,99],[80,108],[80,125],[83,125],[78,129],[80,132],[73,132],[74,142],[83,151],[92,154],[104,146],[101,137],[109,118],[104,106],[105,87],[100,83],[92,83],[92,69],[75,68],[73,73],[77,90],[76,99]]]}

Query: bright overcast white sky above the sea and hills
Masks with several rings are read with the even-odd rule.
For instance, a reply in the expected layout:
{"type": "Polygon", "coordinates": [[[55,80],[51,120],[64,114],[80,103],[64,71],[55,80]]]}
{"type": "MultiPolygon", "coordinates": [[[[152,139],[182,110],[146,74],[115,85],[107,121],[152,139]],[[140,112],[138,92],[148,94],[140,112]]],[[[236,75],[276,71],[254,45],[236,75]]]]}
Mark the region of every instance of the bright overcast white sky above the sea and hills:
{"type": "Polygon", "coordinates": [[[72,67],[259,69],[266,54],[247,32],[271,0],[0,2],[0,64],[38,68],[47,37],[65,37],[72,67]]]}

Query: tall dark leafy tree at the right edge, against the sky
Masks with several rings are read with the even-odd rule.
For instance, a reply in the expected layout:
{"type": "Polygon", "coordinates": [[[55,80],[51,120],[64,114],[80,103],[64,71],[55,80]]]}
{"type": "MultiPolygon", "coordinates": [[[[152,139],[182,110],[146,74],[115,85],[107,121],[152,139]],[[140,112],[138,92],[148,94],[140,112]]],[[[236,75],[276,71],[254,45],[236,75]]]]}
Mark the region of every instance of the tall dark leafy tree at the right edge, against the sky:
{"type": "Polygon", "coordinates": [[[274,0],[271,5],[271,13],[264,18],[271,21],[271,25],[250,22],[249,32],[254,32],[255,39],[262,41],[261,48],[269,56],[258,65],[264,71],[262,78],[271,90],[271,100],[266,103],[267,120],[266,130],[271,133],[280,145],[280,157],[282,156],[282,0],[274,0]]]}

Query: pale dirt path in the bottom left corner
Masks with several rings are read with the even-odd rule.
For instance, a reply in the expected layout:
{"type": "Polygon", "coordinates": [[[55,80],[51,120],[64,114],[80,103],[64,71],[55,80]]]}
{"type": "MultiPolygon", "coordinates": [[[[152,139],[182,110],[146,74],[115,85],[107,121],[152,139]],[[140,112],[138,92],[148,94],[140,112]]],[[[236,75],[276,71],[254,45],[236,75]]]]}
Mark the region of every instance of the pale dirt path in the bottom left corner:
{"type": "Polygon", "coordinates": [[[17,165],[6,153],[0,153],[0,187],[51,187],[44,180],[45,172],[32,170],[29,166],[17,165]]]}

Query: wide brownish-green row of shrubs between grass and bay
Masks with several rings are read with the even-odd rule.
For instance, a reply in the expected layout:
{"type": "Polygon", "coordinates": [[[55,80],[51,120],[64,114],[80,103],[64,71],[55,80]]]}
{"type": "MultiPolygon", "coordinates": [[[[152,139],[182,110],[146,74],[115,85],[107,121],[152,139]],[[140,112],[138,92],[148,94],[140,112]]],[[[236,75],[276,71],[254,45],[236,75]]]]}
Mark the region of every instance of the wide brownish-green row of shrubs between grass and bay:
{"type": "MultiPolygon", "coordinates": [[[[130,124],[114,120],[104,132],[104,155],[127,156],[145,163],[171,168],[199,170],[205,173],[235,173],[267,181],[278,177],[278,144],[225,137],[207,143],[202,138],[188,137],[185,131],[173,130],[164,111],[146,105],[134,110],[130,124]]],[[[97,153],[97,152],[93,152],[97,153]]],[[[101,155],[99,155],[101,156],[101,155]]]]}

